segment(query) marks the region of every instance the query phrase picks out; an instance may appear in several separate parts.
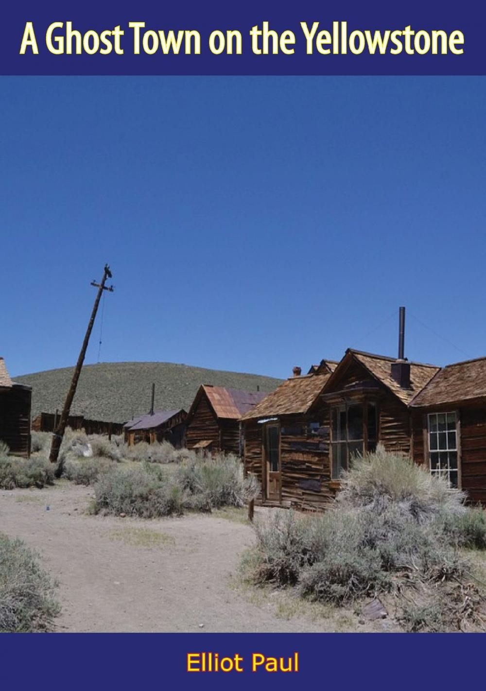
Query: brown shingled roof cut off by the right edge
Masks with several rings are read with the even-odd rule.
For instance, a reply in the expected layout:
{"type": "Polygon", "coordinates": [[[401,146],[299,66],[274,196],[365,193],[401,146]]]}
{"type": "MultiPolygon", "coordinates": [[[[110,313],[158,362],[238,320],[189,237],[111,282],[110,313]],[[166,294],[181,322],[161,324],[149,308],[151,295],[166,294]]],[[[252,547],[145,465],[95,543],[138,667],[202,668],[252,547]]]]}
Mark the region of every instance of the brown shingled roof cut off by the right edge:
{"type": "Polygon", "coordinates": [[[438,406],[486,398],[486,358],[456,362],[437,372],[411,406],[438,406]]]}

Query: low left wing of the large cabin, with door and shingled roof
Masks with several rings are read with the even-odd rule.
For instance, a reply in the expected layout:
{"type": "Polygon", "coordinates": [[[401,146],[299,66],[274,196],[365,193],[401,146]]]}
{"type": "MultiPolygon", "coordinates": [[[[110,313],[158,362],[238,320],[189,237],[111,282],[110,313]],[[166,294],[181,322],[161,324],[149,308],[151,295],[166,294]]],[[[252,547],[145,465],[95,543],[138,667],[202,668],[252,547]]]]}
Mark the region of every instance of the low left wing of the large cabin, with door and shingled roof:
{"type": "Polygon", "coordinates": [[[243,415],[245,473],[261,484],[263,504],[316,509],[328,493],[328,439],[319,415],[311,414],[336,368],[330,360],[301,377],[300,368],[243,415]]]}

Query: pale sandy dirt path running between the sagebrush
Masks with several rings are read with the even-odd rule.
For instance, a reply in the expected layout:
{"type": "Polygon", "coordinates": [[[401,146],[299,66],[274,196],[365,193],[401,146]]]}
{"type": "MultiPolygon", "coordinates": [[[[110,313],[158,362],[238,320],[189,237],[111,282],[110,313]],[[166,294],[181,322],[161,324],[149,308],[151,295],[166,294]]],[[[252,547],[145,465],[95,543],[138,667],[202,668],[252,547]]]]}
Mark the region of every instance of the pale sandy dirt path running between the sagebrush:
{"type": "Polygon", "coordinates": [[[35,547],[59,580],[57,630],[312,632],[333,630],[252,602],[231,575],[252,529],[215,515],[137,520],[86,515],[92,490],[0,491],[0,530],[35,547]],[[49,507],[47,509],[47,507],[49,507]]]}

